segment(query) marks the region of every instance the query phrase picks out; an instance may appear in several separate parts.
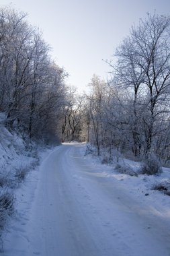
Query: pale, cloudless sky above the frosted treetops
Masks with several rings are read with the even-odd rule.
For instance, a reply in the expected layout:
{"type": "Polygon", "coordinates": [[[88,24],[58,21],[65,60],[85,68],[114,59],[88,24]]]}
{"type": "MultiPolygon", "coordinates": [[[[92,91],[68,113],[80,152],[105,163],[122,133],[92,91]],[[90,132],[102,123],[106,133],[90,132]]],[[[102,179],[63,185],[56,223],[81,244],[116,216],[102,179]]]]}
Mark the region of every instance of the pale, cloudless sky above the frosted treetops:
{"type": "Polygon", "coordinates": [[[169,0],[0,0],[28,13],[69,73],[68,84],[85,90],[93,73],[106,79],[114,50],[146,12],[170,14],[169,0]]]}

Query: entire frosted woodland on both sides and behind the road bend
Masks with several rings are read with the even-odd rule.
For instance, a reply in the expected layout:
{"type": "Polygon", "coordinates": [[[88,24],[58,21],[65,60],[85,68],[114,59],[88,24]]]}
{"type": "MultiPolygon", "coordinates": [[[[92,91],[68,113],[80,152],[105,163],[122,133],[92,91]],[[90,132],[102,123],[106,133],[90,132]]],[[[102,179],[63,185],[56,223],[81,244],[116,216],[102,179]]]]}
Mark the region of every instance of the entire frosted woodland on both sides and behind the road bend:
{"type": "Polygon", "coordinates": [[[106,61],[108,80],[93,75],[81,95],[50,53],[25,13],[0,9],[0,111],[9,130],[38,143],[87,141],[106,161],[169,161],[169,17],[147,13],[132,26],[106,61]]]}

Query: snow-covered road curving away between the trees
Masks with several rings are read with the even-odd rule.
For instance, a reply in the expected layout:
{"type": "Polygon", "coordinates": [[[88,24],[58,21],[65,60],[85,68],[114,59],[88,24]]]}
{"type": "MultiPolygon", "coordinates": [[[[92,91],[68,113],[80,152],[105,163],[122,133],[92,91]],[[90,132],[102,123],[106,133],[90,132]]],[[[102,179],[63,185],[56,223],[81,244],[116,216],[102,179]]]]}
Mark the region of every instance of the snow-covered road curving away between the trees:
{"type": "Polygon", "coordinates": [[[65,144],[44,159],[28,222],[4,255],[170,255],[169,218],[105,177],[82,147],[65,144]]]}

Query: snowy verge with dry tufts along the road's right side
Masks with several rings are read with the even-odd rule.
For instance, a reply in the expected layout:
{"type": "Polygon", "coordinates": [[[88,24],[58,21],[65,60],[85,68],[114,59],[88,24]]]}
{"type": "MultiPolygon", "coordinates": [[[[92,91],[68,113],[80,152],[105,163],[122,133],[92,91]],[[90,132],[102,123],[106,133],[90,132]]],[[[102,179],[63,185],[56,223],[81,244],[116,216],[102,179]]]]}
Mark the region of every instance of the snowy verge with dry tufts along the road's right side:
{"type": "MultiPolygon", "coordinates": [[[[81,154],[83,153],[84,150],[81,149],[81,154]]],[[[170,218],[170,197],[166,195],[166,190],[161,189],[161,185],[167,185],[167,187],[170,185],[170,168],[163,167],[161,174],[147,175],[140,173],[142,167],[141,162],[134,162],[119,157],[112,164],[101,164],[102,160],[97,156],[87,154],[84,158],[87,162],[91,162],[93,166],[98,166],[98,168],[101,166],[101,177],[116,182],[120,190],[132,194],[132,197],[138,200],[139,204],[144,203],[147,206],[148,214],[151,213],[157,216],[163,216],[163,218],[170,218]],[[119,168],[116,168],[117,166],[121,166],[127,170],[129,169],[130,175],[119,172],[119,168]],[[133,175],[133,172],[136,175],[133,175]],[[160,190],[157,190],[157,187],[160,187],[160,190]]]]}

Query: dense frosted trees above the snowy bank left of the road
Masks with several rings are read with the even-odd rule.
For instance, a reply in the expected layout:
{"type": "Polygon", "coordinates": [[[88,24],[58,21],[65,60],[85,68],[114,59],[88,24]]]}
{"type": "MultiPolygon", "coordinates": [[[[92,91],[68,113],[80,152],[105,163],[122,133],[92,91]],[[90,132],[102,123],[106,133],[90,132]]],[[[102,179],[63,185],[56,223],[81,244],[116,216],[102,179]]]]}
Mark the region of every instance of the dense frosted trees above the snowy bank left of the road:
{"type": "Polygon", "coordinates": [[[50,47],[26,14],[0,9],[0,110],[6,125],[30,138],[56,139],[65,102],[64,69],[50,57],[50,47]]]}

